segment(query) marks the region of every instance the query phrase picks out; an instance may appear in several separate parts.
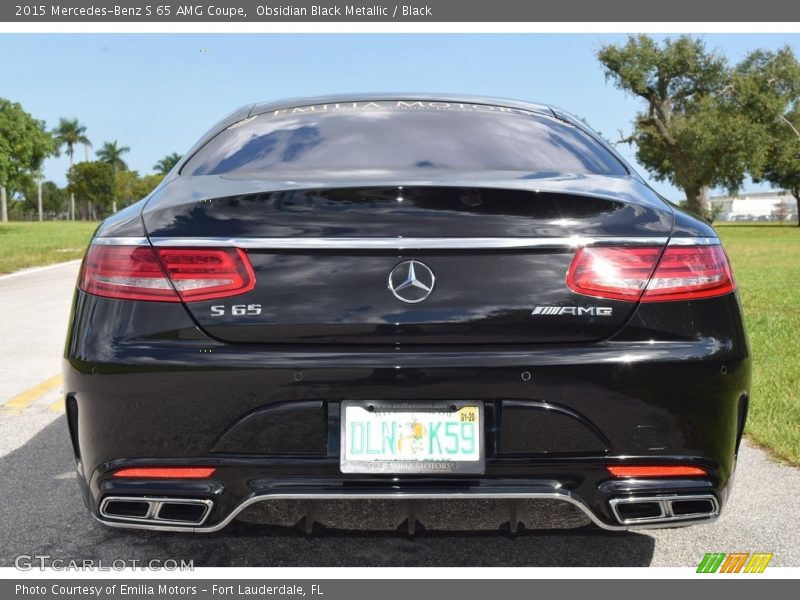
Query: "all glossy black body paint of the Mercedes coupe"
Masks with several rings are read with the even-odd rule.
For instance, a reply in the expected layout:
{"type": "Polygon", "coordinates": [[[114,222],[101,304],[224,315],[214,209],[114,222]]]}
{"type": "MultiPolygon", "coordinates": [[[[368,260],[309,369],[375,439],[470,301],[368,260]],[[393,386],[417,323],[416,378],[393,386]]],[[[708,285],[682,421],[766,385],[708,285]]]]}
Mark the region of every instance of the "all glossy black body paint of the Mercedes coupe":
{"type": "MultiPolygon", "coordinates": [[[[269,106],[241,109],[206,139],[280,105],[269,106]]],[[[635,174],[338,172],[275,181],[179,171],[96,235],[716,237],[635,174]]],[[[618,525],[608,500],[629,494],[711,492],[723,504],[750,382],[736,294],[598,302],[566,288],[572,253],[251,250],[258,285],[236,301],[265,312],[245,322],[213,321],[214,302],[77,291],[65,391],[90,510],[97,514],[106,495],[202,497],[215,500],[214,525],[242,501],[276,492],[556,484],[608,525],[618,525]],[[408,258],[437,273],[440,287],[420,305],[386,290],[392,266],[408,258]],[[598,303],[612,306],[613,318],[530,321],[532,305],[598,303]],[[343,475],[340,402],[374,399],[483,402],[485,475],[343,475]],[[625,462],[696,464],[709,475],[611,479],[605,467],[625,462]],[[209,481],[111,476],[131,465],[218,471],[209,481]]]]}

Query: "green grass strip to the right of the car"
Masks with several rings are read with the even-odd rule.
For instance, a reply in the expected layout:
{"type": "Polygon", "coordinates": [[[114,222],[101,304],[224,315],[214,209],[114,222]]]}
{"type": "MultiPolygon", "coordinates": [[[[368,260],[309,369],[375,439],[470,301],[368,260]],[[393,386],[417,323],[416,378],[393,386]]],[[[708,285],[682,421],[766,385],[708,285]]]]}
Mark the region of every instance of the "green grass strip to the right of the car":
{"type": "Polygon", "coordinates": [[[800,464],[800,227],[719,225],[753,353],[747,435],[800,464]]]}

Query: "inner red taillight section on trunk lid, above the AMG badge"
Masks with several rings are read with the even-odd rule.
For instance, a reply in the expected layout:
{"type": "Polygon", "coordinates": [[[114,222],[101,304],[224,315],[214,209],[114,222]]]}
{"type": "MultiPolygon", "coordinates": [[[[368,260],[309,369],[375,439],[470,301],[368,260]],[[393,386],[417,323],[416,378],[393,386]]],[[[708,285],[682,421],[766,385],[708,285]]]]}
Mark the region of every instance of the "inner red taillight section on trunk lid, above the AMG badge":
{"type": "Polygon", "coordinates": [[[567,285],[586,296],[635,302],[661,256],[661,248],[581,248],[567,271],[567,285]]]}

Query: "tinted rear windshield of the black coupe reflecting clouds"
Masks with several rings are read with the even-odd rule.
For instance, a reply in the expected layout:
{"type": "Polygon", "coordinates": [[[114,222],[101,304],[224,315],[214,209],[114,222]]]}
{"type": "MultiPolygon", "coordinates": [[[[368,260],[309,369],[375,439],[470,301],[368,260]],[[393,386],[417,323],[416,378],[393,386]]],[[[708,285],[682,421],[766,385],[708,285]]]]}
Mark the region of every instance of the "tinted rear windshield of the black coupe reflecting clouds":
{"type": "Polygon", "coordinates": [[[484,104],[348,102],[275,110],[221,132],[188,175],[326,169],[478,169],[626,175],[581,130],[548,116],[484,104]]]}

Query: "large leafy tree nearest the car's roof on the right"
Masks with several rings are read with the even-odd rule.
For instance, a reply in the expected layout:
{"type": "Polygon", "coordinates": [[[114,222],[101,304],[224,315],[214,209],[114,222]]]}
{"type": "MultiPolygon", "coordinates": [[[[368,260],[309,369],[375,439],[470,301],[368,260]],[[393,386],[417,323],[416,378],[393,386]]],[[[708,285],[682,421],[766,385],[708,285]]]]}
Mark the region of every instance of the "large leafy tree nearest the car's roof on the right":
{"type": "Polygon", "coordinates": [[[688,35],[658,45],[631,36],[598,52],[606,79],[645,101],[634,133],[638,160],[658,180],[686,192],[689,210],[705,216],[714,187],[738,190],[766,161],[768,132],[742,111],[727,61],[688,35]]]}

